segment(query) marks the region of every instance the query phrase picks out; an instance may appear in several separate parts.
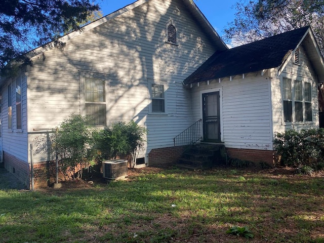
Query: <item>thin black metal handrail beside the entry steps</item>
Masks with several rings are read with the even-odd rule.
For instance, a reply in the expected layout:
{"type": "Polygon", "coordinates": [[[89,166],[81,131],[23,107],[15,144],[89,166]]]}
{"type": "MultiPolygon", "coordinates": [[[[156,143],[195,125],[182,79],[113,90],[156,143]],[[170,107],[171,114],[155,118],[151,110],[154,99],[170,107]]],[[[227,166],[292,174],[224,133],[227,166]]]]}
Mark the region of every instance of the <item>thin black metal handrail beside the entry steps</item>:
{"type": "Polygon", "coordinates": [[[201,119],[197,120],[194,124],[192,124],[189,128],[184,130],[178,136],[173,139],[174,146],[186,146],[192,145],[201,137],[201,119]]]}

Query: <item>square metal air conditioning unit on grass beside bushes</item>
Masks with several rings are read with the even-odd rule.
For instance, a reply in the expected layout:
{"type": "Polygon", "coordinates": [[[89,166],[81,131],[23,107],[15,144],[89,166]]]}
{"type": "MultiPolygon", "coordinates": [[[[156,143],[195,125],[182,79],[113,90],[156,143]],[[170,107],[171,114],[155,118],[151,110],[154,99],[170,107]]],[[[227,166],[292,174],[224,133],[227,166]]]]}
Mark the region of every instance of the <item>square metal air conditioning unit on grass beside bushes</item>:
{"type": "Polygon", "coordinates": [[[111,159],[102,162],[102,176],[109,180],[125,179],[128,176],[126,159],[111,159]]]}

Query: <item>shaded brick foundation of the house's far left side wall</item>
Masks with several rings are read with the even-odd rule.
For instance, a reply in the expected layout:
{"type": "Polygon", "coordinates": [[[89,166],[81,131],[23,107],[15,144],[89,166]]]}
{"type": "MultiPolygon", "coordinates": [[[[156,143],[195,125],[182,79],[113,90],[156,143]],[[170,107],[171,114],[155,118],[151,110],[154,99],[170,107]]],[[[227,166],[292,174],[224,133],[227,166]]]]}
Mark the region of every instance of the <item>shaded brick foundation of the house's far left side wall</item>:
{"type": "Polygon", "coordinates": [[[29,164],[26,161],[4,152],[4,163],[7,171],[12,173],[27,188],[30,188],[29,164]]]}

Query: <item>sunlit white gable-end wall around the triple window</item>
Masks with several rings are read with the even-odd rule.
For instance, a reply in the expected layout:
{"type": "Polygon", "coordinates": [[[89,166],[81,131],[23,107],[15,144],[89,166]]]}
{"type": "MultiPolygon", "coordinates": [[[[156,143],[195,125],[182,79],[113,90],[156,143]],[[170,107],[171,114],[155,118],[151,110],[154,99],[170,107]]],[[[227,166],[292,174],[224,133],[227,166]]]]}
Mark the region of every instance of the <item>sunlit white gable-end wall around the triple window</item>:
{"type": "MultiPolygon", "coordinates": [[[[273,75],[271,82],[271,97],[272,97],[272,116],[273,116],[273,137],[275,133],[282,133],[289,129],[301,130],[301,129],[312,129],[319,127],[318,121],[318,97],[317,97],[317,77],[309,62],[309,59],[300,46],[300,63],[295,64],[291,59],[287,66],[278,77],[273,75]],[[291,78],[292,80],[300,79],[303,82],[311,83],[311,95],[312,95],[312,121],[304,122],[292,122],[285,123],[284,111],[282,109],[282,77],[291,78]]],[[[276,73],[275,70],[273,73],[276,73]]]]}

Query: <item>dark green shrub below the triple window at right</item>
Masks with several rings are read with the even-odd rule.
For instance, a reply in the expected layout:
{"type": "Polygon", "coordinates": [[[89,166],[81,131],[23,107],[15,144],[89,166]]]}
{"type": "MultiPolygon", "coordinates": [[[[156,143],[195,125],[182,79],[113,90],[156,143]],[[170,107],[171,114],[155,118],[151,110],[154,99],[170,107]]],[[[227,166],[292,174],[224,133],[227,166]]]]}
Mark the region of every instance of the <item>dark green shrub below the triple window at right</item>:
{"type": "Polygon", "coordinates": [[[273,141],[281,163],[294,168],[316,168],[323,163],[324,129],[287,130],[277,133],[273,141]]]}

